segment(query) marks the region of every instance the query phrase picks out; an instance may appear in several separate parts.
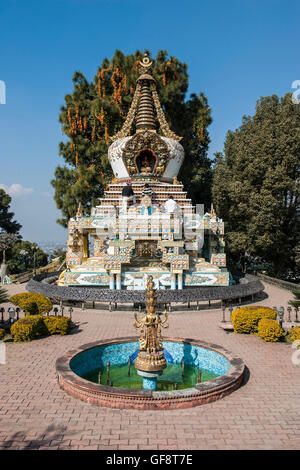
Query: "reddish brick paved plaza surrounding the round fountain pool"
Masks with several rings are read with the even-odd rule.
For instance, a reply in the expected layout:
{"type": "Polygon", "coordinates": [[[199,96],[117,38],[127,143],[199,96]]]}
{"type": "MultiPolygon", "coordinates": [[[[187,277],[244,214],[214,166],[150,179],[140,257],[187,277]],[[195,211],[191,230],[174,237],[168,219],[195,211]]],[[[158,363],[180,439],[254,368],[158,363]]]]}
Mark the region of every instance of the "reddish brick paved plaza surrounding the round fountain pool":
{"type": "MultiPolygon", "coordinates": [[[[292,294],[265,284],[260,304],[287,306],[292,294]]],[[[24,285],[10,286],[9,293],[24,285]]],[[[101,408],[73,398],[56,381],[55,361],[99,339],[132,336],[130,311],[75,309],[68,336],[7,343],[1,370],[1,449],[299,449],[300,365],[288,343],[226,333],[221,310],[175,311],[165,337],[219,344],[240,356],[247,373],[228,397],[197,408],[136,411],[101,408]]]]}

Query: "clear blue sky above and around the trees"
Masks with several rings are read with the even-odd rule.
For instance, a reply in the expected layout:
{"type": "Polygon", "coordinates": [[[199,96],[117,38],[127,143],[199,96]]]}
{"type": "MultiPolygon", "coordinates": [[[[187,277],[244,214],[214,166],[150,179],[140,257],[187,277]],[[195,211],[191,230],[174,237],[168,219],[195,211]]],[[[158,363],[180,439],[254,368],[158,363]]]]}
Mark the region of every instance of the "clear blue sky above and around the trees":
{"type": "Polygon", "coordinates": [[[300,3],[294,0],[1,0],[0,187],[24,239],[62,241],[50,180],[58,123],[75,70],[92,79],[116,49],[159,49],[187,63],[189,93],[212,109],[209,155],[261,96],[283,96],[300,79],[300,3]]]}

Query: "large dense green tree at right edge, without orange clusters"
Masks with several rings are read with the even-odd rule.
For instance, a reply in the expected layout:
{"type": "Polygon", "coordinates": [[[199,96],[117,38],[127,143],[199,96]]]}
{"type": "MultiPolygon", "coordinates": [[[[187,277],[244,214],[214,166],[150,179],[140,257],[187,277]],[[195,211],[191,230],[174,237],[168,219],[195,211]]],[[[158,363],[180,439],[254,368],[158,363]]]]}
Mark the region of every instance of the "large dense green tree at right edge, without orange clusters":
{"type": "Polygon", "coordinates": [[[261,256],[272,263],[271,275],[300,268],[299,149],[300,105],[290,94],[273,95],[228,132],[224,156],[216,155],[213,201],[225,221],[227,251],[236,261],[261,256]]]}

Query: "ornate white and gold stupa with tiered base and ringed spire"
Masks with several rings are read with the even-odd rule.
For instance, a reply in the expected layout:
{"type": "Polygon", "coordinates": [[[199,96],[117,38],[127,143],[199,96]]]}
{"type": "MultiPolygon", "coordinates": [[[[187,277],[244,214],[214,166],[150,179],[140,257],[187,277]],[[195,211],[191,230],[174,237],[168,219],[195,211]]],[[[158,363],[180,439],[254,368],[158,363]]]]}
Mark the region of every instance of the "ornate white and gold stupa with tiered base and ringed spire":
{"type": "Polygon", "coordinates": [[[196,210],[177,179],[184,149],[164,116],[152,65],[146,55],[140,61],[131,108],[111,137],[108,159],[114,178],[104,197],[91,215],[79,207],[69,221],[67,269],[60,286],[144,290],[148,276],[156,289],[230,284],[224,223],[213,207],[206,214],[196,210]],[[122,190],[128,182],[135,198],[124,207],[122,190]],[[152,194],[142,194],[145,184],[152,194]],[[165,206],[170,196],[176,202],[173,211],[165,206]]]}

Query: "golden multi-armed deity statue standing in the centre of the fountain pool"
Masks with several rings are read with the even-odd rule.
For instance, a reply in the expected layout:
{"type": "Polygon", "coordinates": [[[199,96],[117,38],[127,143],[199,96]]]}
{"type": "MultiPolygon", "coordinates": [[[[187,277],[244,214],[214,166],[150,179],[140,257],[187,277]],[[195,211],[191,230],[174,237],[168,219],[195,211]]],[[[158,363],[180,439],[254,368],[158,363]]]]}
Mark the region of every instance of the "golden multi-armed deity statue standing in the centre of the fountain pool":
{"type": "Polygon", "coordinates": [[[135,368],[142,371],[160,371],[167,367],[162,344],[161,328],[168,328],[166,325],[168,313],[165,311],[163,315],[165,319],[162,321],[161,316],[156,313],[157,310],[157,294],[154,289],[152,276],[149,276],[147,282],[147,299],[146,313],[139,320],[137,313],[134,314],[134,327],[140,328],[140,347],[139,353],[135,361],[135,368]]]}

